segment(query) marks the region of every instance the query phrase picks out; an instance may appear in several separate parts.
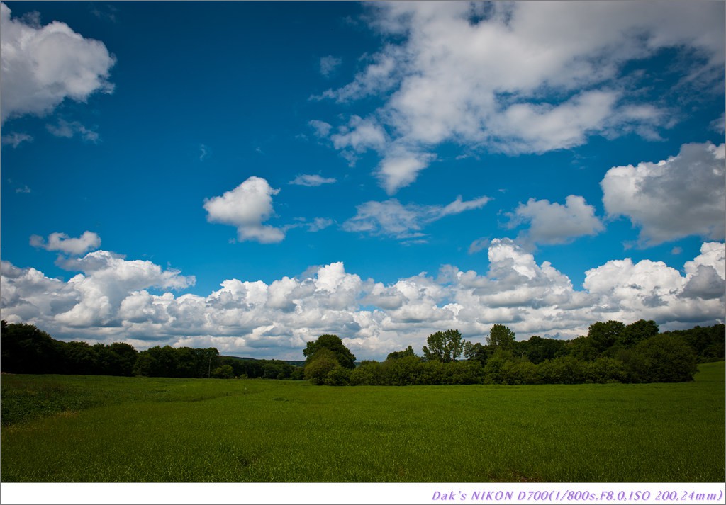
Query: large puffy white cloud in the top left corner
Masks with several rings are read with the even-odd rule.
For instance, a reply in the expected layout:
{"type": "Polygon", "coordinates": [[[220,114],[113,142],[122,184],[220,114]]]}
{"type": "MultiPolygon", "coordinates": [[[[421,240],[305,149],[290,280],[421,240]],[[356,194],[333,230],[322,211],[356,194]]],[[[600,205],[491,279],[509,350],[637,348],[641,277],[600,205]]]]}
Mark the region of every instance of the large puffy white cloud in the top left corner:
{"type": "Polygon", "coordinates": [[[9,7],[0,4],[0,51],[0,123],[46,115],[66,98],[86,102],[97,91],[113,91],[107,78],[114,57],[63,22],[40,26],[12,19],[9,7]]]}

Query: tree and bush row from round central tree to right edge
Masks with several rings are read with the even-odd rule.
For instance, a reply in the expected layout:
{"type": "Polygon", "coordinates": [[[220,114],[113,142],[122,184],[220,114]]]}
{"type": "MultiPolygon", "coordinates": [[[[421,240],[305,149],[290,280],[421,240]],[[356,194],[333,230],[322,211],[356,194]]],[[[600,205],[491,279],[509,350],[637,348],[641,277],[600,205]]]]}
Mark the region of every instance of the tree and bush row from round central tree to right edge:
{"type": "Polygon", "coordinates": [[[725,357],[726,327],[659,332],[655,321],[597,322],[587,335],[515,340],[502,324],[486,343],[463,340],[457,329],[431,334],[417,356],[409,345],[385,361],[362,361],[336,335],[309,342],[304,376],[315,385],[582,384],[686,382],[696,364],[725,357]]]}

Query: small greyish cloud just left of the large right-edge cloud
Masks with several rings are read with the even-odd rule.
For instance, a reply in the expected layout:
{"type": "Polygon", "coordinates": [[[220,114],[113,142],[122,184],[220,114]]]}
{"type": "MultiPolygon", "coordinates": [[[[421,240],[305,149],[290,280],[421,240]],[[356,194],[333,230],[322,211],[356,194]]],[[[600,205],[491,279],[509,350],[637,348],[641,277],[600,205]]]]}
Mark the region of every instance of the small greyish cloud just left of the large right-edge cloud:
{"type": "Polygon", "coordinates": [[[574,194],[566,198],[565,205],[530,198],[526,204],[520,204],[511,217],[510,226],[530,223],[529,230],[521,238],[538,244],[564,244],[576,237],[603,231],[603,223],[595,217],[595,208],[574,194]]]}

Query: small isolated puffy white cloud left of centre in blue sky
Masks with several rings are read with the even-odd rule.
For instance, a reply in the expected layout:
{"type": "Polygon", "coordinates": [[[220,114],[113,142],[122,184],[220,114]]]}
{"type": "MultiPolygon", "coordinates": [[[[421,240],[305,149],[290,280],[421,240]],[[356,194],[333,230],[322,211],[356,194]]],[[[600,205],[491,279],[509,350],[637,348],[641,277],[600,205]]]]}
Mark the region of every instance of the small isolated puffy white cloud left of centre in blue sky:
{"type": "Polygon", "coordinates": [[[240,241],[281,242],[285,231],[262,224],[273,215],[272,197],[278,192],[264,178],[252,176],[221,197],[205,200],[207,221],[236,226],[240,241]]]}

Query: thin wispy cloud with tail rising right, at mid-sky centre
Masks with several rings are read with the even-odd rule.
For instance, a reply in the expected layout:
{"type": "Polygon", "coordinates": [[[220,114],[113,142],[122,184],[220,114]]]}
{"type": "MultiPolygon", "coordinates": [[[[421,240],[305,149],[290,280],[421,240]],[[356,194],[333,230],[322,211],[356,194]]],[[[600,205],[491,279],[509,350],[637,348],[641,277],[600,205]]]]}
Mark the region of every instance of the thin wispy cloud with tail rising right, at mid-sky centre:
{"type": "Polygon", "coordinates": [[[356,215],[343,223],[343,229],[397,239],[417,239],[425,236],[422,232],[425,225],[447,215],[482,208],[489,200],[489,197],[478,197],[464,201],[459,196],[449,205],[402,205],[395,198],[385,202],[365,202],[356,207],[356,215]]]}

